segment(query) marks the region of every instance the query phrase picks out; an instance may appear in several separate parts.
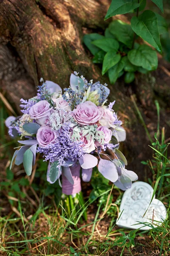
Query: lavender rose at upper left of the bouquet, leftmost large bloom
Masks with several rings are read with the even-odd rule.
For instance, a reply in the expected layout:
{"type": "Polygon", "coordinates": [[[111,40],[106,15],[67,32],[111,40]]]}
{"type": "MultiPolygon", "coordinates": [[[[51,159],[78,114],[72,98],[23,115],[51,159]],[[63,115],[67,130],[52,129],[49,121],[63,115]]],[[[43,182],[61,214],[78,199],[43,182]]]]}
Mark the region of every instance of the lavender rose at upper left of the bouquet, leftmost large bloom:
{"type": "Polygon", "coordinates": [[[36,120],[37,124],[43,125],[45,119],[51,115],[52,109],[53,108],[50,108],[50,104],[46,100],[41,100],[30,108],[29,114],[31,119],[36,120]]]}

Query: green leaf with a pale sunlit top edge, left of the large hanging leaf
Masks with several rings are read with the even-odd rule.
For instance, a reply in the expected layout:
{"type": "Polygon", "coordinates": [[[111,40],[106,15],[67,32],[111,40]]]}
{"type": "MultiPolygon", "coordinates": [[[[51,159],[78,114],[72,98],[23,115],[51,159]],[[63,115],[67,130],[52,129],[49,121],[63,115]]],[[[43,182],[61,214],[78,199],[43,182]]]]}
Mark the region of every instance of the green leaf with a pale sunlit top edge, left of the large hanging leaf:
{"type": "Polygon", "coordinates": [[[121,20],[114,20],[109,24],[110,32],[116,36],[116,39],[129,48],[133,45],[134,32],[131,26],[121,20]]]}

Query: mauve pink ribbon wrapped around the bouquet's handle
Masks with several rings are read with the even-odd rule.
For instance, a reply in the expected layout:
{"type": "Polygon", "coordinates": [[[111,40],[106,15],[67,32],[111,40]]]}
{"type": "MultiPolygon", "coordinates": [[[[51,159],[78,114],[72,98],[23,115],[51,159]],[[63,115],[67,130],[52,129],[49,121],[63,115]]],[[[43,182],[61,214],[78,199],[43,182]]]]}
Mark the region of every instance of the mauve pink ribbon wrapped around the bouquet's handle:
{"type": "Polygon", "coordinates": [[[74,163],[72,166],[68,167],[71,170],[71,174],[73,176],[74,185],[72,185],[65,175],[62,173],[62,193],[65,195],[74,195],[79,193],[81,188],[81,180],[80,180],[80,169],[81,166],[79,162],[74,163]]]}

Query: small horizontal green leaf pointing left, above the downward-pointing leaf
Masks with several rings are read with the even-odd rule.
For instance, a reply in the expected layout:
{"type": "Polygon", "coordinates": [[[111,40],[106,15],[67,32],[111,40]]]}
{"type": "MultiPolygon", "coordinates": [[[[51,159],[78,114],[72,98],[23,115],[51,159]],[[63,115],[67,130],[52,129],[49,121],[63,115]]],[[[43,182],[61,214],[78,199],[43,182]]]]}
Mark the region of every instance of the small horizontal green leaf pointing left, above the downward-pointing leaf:
{"type": "Polygon", "coordinates": [[[119,43],[117,40],[113,38],[103,38],[99,40],[95,40],[92,42],[96,47],[99,47],[105,52],[111,51],[111,50],[118,50],[119,49],[119,43]]]}

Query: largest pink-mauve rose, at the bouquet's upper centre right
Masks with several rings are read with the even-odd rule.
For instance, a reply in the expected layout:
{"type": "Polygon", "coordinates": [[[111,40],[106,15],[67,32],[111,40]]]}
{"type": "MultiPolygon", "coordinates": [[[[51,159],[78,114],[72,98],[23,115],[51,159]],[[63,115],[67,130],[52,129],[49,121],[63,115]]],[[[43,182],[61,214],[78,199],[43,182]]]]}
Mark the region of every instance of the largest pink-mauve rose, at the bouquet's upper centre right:
{"type": "Polygon", "coordinates": [[[103,116],[103,108],[97,107],[93,102],[80,103],[74,109],[73,117],[81,125],[91,125],[98,122],[103,116]]]}

